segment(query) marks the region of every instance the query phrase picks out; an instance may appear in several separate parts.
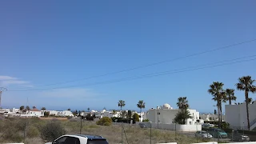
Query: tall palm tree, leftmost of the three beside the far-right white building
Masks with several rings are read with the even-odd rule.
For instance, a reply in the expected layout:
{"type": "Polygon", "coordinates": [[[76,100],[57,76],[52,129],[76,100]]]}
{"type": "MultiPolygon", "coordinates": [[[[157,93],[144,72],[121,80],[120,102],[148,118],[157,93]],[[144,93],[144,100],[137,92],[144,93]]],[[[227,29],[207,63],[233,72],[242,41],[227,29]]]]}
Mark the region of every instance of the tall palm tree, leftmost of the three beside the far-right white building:
{"type": "Polygon", "coordinates": [[[213,82],[210,85],[210,89],[208,92],[213,95],[213,100],[217,102],[217,107],[218,107],[218,127],[220,128],[222,125],[222,119],[221,119],[221,113],[222,113],[222,100],[225,101],[225,95],[226,93],[223,90],[224,84],[222,82],[213,82]]]}

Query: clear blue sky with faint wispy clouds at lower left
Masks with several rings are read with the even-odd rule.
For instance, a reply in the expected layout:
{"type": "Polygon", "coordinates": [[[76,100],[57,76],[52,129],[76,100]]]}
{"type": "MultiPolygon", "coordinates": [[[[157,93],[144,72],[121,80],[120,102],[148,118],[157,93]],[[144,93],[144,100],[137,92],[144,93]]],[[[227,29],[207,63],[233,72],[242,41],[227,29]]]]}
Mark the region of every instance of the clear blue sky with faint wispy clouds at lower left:
{"type": "MultiPolygon", "coordinates": [[[[0,86],[2,106],[47,109],[146,110],[186,96],[190,108],[213,112],[207,93],[214,81],[235,88],[238,78],[256,79],[255,61],[133,81],[86,85],[198,66],[256,54],[256,42],[104,77],[60,85],[179,58],[256,38],[255,1],[1,1],[0,86]],[[76,85],[76,86],[74,86],[76,85]],[[69,87],[72,86],[72,87],[69,87]],[[63,87],[62,89],[51,89],[63,87]],[[45,90],[38,90],[45,89],[45,90]],[[38,91],[32,91],[38,90],[38,91]]],[[[238,102],[244,100],[236,91],[238,102]]],[[[255,94],[250,97],[255,99],[255,94]]]]}

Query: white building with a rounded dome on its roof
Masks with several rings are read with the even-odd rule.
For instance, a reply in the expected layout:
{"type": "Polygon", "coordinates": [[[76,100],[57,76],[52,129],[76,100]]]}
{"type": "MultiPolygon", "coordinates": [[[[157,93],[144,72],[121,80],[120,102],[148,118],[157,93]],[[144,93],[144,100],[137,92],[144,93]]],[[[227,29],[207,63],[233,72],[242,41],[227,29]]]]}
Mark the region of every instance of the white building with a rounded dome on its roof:
{"type": "MultiPolygon", "coordinates": [[[[150,109],[144,114],[143,119],[149,119],[150,122],[171,124],[174,121],[175,115],[178,114],[178,109],[173,109],[169,104],[164,104],[162,107],[150,109]]],[[[192,118],[187,119],[187,125],[194,125],[199,120],[199,112],[196,110],[188,110],[192,118]]]]}

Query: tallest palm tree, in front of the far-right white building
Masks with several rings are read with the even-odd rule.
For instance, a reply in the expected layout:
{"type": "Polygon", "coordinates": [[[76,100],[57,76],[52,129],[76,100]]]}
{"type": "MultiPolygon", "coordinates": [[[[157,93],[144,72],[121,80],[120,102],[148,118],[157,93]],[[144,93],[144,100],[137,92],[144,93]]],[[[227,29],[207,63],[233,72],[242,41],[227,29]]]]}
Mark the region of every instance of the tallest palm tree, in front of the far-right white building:
{"type": "Polygon", "coordinates": [[[242,78],[238,78],[238,83],[236,84],[238,90],[244,90],[245,91],[245,97],[246,97],[246,113],[247,113],[247,126],[248,130],[250,130],[250,119],[249,119],[249,92],[255,93],[256,92],[256,86],[254,86],[255,80],[252,80],[250,76],[245,76],[242,78]]]}

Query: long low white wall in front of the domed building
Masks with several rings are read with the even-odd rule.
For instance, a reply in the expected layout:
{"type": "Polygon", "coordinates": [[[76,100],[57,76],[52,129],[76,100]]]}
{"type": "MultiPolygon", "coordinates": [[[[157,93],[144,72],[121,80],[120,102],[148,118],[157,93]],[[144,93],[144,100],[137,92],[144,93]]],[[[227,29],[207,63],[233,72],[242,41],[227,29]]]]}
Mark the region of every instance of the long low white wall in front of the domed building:
{"type": "MultiPolygon", "coordinates": [[[[136,125],[139,123],[144,123],[146,127],[150,127],[150,122],[136,122],[136,125]]],[[[202,125],[177,125],[177,124],[164,124],[164,123],[154,123],[151,122],[151,126],[154,129],[162,130],[177,130],[177,131],[198,131],[202,130],[202,125]]]]}

